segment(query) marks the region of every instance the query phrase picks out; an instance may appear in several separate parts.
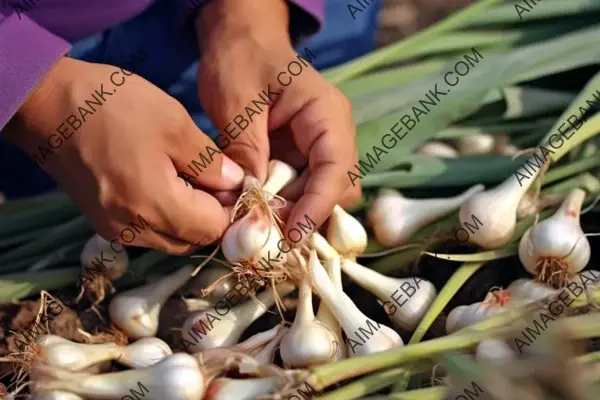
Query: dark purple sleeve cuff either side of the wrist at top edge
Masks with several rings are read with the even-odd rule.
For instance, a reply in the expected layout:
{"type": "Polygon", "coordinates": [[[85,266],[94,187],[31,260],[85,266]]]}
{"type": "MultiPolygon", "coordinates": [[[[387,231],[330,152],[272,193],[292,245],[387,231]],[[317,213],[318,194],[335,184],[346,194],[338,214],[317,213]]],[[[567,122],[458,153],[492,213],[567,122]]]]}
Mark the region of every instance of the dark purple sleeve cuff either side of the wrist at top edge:
{"type": "MultiPolygon", "coordinates": [[[[203,4],[211,0],[178,0],[180,18],[195,15],[203,4]]],[[[290,5],[290,36],[294,42],[317,33],[325,18],[325,0],[288,0],[290,5]]]]}

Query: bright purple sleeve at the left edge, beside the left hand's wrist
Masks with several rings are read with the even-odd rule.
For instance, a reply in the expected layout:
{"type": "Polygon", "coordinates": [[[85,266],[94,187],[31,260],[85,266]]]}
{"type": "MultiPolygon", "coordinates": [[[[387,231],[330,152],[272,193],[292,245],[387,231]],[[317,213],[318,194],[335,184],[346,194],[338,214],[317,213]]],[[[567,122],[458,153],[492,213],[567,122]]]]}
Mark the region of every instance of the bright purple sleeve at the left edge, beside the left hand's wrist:
{"type": "Polygon", "coordinates": [[[0,130],[69,49],[27,15],[0,11],[0,130]]]}

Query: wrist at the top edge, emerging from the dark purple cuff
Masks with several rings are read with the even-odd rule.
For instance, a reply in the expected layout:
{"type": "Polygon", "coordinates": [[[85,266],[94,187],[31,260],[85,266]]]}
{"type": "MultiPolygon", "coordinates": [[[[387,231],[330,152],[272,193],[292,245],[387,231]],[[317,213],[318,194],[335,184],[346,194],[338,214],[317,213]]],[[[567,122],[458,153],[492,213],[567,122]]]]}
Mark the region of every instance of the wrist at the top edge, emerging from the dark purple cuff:
{"type": "Polygon", "coordinates": [[[221,43],[253,41],[291,46],[285,0],[212,0],[198,13],[196,32],[205,53],[221,43]]]}

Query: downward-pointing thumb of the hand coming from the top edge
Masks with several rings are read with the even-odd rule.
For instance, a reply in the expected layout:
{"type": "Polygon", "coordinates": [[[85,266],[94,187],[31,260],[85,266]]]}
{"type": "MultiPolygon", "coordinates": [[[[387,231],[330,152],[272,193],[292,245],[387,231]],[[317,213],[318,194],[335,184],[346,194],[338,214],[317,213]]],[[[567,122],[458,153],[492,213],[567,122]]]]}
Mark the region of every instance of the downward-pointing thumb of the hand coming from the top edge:
{"type": "Polygon", "coordinates": [[[270,153],[267,131],[269,109],[264,105],[259,107],[259,105],[241,103],[242,99],[252,99],[252,96],[240,95],[238,98],[239,103],[229,104],[227,107],[235,110],[232,114],[236,118],[234,122],[232,122],[232,115],[221,108],[209,112],[209,115],[217,126],[224,127],[223,130],[226,131],[221,136],[223,138],[221,147],[225,154],[264,182],[267,179],[270,153]]]}

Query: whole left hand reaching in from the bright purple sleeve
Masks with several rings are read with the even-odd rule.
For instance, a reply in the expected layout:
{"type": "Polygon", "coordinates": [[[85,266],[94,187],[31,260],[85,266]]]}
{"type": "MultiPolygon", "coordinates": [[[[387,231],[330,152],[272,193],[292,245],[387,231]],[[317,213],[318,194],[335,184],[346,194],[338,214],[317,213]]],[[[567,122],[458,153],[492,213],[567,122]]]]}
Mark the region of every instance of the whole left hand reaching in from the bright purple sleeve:
{"type": "Polygon", "coordinates": [[[210,160],[206,146],[219,151],[218,147],[175,99],[110,65],[62,58],[6,131],[7,138],[38,163],[43,160],[42,168],[82,209],[96,232],[122,244],[185,254],[217,240],[229,224],[229,212],[199,188],[229,191],[243,179],[236,163],[213,153],[207,168],[197,172],[193,187],[187,185],[178,172],[194,176],[188,164],[202,163],[199,153],[210,160]],[[86,100],[103,104],[90,106],[86,100]],[[65,120],[71,114],[81,120],[80,112],[85,111],[78,107],[91,113],[81,125],[71,118],[72,127],[65,120]],[[53,154],[40,155],[38,146],[53,154]],[[126,242],[131,234],[125,233],[123,240],[121,232],[131,228],[131,222],[139,225],[138,215],[149,227],[126,242]]]}

